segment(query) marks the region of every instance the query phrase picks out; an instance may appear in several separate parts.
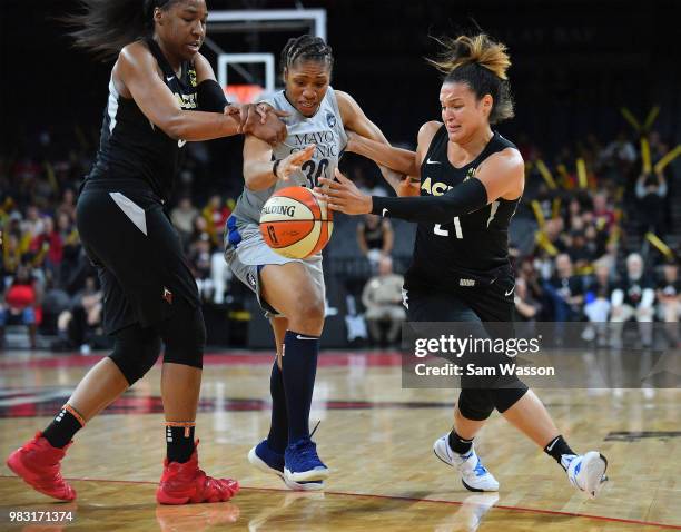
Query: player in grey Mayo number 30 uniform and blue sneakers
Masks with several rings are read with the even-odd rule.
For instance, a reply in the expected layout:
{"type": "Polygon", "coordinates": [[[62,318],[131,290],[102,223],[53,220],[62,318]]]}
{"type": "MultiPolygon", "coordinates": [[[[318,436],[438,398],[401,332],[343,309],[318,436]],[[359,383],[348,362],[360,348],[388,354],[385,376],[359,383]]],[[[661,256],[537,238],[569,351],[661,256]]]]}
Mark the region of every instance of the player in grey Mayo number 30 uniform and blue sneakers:
{"type": "MultiPolygon", "coordinates": [[[[227,221],[226,259],[267,312],[277,352],[270,375],[270,431],[248,459],[292,489],[319,490],[328,469],[310,440],[309,410],[324,327],[322,254],[306,259],[277,255],[263,239],[258,223],[274,191],[313,188],[319,178],[334,175],[347,142],[346,129],[387,141],[349,95],[329,86],[334,58],[323,39],[290,39],[280,63],[285,90],[260,106],[289,114],[284,118],[288,136],[274,147],[253,137],[244,142],[245,187],[227,221]]],[[[384,176],[393,177],[387,170],[384,176]]]]}

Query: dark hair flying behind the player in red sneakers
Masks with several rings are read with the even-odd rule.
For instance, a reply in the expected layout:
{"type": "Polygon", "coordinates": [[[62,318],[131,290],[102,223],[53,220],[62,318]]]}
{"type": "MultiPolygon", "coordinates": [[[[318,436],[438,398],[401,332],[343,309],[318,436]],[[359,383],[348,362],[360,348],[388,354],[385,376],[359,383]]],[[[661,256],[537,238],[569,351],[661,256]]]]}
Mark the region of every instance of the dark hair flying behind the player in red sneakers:
{"type": "Polygon", "coordinates": [[[82,13],[61,19],[77,28],[69,35],[76,48],[107,61],[120,50],[154,32],[154,11],[167,11],[182,0],[80,0],[82,13]]]}

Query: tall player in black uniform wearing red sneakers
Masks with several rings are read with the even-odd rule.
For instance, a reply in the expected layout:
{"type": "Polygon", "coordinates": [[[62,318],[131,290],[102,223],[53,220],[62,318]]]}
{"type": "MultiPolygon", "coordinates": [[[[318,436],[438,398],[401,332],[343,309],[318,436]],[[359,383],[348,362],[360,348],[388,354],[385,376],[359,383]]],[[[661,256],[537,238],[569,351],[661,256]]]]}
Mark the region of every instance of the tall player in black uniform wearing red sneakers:
{"type": "MultiPolygon", "coordinates": [[[[83,0],[77,43],[117,57],[95,165],[77,205],[85,249],[103,290],[114,353],[80,382],[52,423],[8,459],[41,493],[70,501],[60,461],[86,422],[155,364],[166,346],[161,394],[167,457],[164,504],[226,501],[238,483],[198,469],[194,427],[206,331],[196,283],[164,213],[187,141],[250,132],[286,138],[276,114],[227,107],[208,61],[204,0],[83,0]]],[[[131,445],[135,445],[131,443],[131,445]]]]}

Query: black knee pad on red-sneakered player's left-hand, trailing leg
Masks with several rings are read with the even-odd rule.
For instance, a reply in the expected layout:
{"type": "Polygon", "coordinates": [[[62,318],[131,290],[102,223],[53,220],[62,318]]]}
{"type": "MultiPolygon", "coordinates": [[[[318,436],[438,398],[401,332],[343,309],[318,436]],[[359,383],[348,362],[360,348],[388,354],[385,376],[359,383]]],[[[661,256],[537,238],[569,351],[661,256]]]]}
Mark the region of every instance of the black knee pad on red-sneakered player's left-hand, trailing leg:
{"type": "Polygon", "coordinates": [[[159,354],[158,333],[152,328],[132,325],[116,334],[114,353],[109,355],[109,358],[118,366],[131,386],[151,370],[159,354]]]}

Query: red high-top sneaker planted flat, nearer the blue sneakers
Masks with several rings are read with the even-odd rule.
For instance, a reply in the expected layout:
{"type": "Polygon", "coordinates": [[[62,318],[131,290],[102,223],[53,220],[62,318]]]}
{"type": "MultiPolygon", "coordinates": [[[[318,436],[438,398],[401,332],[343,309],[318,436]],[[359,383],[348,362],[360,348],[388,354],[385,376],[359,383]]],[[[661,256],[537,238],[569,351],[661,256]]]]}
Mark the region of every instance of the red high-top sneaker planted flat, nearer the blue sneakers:
{"type": "Polygon", "coordinates": [[[231,479],[214,479],[198,469],[198,440],[188,462],[164,460],[164,474],[156,500],[160,504],[193,504],[199,502],[224,502],[239,491],[239,483],[231,479]]]}

